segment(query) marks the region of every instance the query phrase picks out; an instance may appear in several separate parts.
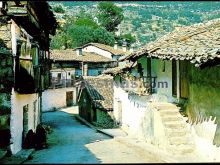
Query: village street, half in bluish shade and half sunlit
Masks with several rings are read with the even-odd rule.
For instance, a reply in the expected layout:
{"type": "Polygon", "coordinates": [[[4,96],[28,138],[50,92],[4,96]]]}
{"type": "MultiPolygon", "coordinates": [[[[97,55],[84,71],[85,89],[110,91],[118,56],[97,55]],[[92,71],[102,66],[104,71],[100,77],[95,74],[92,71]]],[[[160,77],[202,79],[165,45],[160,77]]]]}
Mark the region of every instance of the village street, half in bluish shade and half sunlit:
{"type": "Polygon", "coordinates": [[[24,164],[163,162],[152,154],[139,155],[132,147],[95,132],[74,115],[65,110],[43,113],[43,123],[53,129],[48,135],[49,147],[35,151],[24,164]]]}

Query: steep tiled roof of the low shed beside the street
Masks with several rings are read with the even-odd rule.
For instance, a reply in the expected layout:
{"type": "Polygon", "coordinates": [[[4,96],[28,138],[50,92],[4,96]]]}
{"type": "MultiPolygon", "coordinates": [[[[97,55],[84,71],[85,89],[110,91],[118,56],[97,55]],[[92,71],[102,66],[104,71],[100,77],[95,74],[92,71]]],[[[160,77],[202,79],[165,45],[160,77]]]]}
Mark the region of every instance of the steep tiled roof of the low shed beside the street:
{"type": "Polygon", "coordinates": [[[85,87],[96,108],[113,109],[113,77],[109,75],[83,77],[85,87]]]}

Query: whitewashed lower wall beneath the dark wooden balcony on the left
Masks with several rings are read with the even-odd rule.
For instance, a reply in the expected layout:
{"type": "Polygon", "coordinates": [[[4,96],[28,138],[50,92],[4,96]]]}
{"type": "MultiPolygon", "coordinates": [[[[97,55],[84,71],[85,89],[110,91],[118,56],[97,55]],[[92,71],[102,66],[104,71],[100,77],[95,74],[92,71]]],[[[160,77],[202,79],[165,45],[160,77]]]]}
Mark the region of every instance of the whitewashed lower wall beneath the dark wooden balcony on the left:
{"type": "Polygon", "coordinates": [[[35,131],[37,124],[40,122],[38,94],[18,94],[12,91],[11,96],[11,142],[10,145],[12,154],[17,153],[22,148],[22,131],[23,131],[23,106],[28,104],[28,130],[35,131]],[[36,102],[36,118],[34,123],[34,101],[36,102]]]}

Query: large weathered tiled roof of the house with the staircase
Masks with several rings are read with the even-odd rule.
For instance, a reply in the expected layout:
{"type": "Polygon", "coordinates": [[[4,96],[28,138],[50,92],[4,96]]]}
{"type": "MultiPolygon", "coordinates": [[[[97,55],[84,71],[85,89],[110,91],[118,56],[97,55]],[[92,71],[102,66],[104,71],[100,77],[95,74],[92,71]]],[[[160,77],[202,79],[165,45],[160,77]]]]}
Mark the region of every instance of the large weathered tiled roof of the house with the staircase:
{"type": "Polygon", "coordinates": [[[189,60],[195,66],[220,58],[220,19],[176,28],[120,60],[143,54],[160,59],[189,60]]]}

